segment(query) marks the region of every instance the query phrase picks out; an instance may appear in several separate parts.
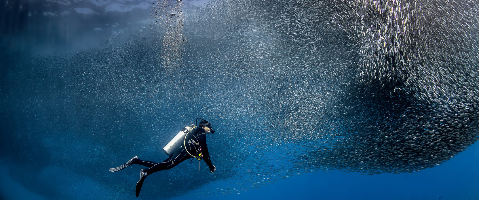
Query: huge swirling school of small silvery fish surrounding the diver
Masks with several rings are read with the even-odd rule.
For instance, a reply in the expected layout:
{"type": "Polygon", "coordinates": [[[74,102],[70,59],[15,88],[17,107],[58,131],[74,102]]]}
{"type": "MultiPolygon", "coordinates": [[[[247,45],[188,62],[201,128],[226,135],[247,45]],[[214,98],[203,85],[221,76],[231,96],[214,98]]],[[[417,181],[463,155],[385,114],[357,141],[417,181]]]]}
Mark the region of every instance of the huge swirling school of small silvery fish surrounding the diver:
{"type": "MultiPolygon", "coordinates": [[[[32,148],[65,154],[82,169],[109,160],[108,169],[135,155],[160,161],[161,148],[183,126],[197,117],[210,121],[217,173],[198,175],[198,164],[158,172],[148,181],[170,184],[149,184],[146,198],[230,178],[236,185],[195,192],[232,193],[318,170],[412,173],[479,139],[478,5],[159,0],[148,28],[126,40],[105,38],[101,47],[68,56],[12,59],[8,69],[18,77],[5,75],[4,82],[21,89],[0,89],[10,91],[5,105],[22,110],[8,116],[32,119],[22,129],[47,132],[42,137],[50,139],[32,148]],[[84,148],[68,156],[66,143],[84,148]]],[[[23,145],[23,137],[11,141],[23,145]]],[[[125,188],[111,199],[131,193],[124,178],[104,176],[102,184],[125,188]]],[[[137,181],[137,174],[127,177],[137,181]]]]}

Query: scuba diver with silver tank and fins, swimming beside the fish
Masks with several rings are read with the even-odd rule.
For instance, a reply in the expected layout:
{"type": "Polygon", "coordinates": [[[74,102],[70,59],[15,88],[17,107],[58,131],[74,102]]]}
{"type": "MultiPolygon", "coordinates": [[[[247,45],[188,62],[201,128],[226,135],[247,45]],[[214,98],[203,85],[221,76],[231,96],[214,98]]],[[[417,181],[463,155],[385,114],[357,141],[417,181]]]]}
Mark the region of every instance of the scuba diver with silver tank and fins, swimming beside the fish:
{"type": "MultiPolygon", "coordinates": [[[[196,122],[198,121],[197,118],[196,122]]],[[[140,194],[141,186],[145,178],[154,172],[158,172],[164,169],[171,169],[181,162],[190,158],[196,158],[198,161],[202,159],[208,165],[210,172],[216,171],[215,165],[211,164],[211,159],[208,153],[208,147],[206,146],[206,134],[215,133],[211,124],[205,119],[201,119],[199,126],[194,124],[184,127],[164,148],[163,151],[170,156],[161,163],[155,163],[152,161],[145,161],[138,159],[138,156],[131,158],[124,165],[110,168],[111,172],[117,172],[125,169],[127,166],[137,164],[144,165],[149,168],[140,170],[140,179],[137,182],[137,188],[135,190],[137,197],[140,194]]]]}

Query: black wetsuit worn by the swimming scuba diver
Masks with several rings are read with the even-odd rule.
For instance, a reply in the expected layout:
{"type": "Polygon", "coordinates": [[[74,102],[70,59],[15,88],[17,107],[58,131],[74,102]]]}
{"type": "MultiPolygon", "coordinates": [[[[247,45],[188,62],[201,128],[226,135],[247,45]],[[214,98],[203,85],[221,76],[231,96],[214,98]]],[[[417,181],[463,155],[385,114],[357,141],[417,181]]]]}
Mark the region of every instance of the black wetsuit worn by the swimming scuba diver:
{"type": "MultiPolygon", "coordinates": [[[[206,134],[205,130],[201,128],[197,128],[194,131],[194,134],[190,133],[190,136],[186,138],[186,150],[192,155],[198,157],[199,154],[202,154],[202,158],[205,161],[206,165],[209,166],[210,170],[214,169],[215,167],[211,164],[211,159],[208,153],[208,147],[206,146],[206,134]]],[[[138,165],[145,165],[149,167],[149,169],[145,169],[144,172],[150,175],[151,173],[158,172],[164,169],[171,169],[174,166],[180,164],[181,162],[192,158],[190,154],[188,154],[185,150],[185,147],[180,147],[176,149],[173,155],[161,163],[155,163],[152,161],[143,161],[143,160],[135,160],[132,163],[138,165]]]]}

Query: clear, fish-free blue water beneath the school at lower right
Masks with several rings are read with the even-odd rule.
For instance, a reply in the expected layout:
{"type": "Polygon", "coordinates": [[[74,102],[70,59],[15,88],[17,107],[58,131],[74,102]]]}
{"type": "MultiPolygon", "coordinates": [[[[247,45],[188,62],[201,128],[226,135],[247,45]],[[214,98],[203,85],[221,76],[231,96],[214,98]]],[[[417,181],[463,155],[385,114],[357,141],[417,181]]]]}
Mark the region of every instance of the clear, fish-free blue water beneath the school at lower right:
{"type": "MultiPolygon", "coordinates": [[[[474,144],[443,165],[412,174],[365,176],[341,171],[318,171],[278,180],[274,184],[239,194],[208,197],[187,194],[173,200],[475,200],[479,197],[478,157],[479,145],[474,144]]],[[[226,183],[213,183],[207,187],[222,184],[226,183]]]]}

